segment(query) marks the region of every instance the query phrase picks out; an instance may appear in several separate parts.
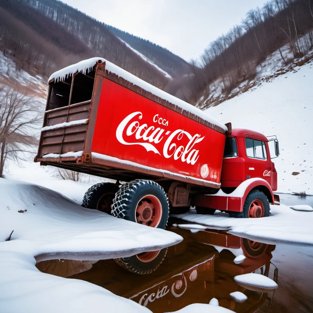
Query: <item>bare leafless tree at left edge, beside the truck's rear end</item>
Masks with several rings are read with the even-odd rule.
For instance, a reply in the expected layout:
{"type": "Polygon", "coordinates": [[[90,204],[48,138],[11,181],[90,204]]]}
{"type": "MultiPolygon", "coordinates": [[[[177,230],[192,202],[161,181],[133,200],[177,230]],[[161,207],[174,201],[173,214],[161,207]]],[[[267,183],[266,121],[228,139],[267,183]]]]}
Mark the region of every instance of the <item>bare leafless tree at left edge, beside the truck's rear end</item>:
{"type": "Polygon", "coordinates": [[[0,177],[7,159],[18,162],[23,153],[34,153],[35,129],[41,121],[38,101],[27,93],[0,85],[0,177]]]}

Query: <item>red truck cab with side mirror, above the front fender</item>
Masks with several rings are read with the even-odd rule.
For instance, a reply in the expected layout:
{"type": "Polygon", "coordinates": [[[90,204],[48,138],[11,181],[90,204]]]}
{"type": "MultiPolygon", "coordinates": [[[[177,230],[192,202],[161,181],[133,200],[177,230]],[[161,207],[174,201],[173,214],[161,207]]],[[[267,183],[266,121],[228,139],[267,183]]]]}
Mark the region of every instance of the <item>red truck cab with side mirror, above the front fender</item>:
{"type": "Polygon", "coordinates": [[[275,141],[275,154],[278,156],[277,139],[268,139],[263,134],[248,129],[233,129],[226,138],[221,187],[224,192],[232,192],[249,178],[263,178],[277,190],[277,172],[271,161],[269,141],[275,141]]]}

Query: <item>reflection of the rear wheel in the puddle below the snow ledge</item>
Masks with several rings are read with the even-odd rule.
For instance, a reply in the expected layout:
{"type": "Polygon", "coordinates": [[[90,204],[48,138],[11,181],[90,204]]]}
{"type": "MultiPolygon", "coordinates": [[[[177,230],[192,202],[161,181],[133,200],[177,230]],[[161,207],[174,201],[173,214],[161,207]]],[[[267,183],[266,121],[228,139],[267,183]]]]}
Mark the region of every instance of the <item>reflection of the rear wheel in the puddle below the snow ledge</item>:
{"type": "Polygon", "coordinates": [[[114,260],[122,268],[133,273],[144,275],[154,272],[160,266],[165,258],[166,252],[167,248],[158,251],[143,252],[128,258],[118,258],[114,260]]]}

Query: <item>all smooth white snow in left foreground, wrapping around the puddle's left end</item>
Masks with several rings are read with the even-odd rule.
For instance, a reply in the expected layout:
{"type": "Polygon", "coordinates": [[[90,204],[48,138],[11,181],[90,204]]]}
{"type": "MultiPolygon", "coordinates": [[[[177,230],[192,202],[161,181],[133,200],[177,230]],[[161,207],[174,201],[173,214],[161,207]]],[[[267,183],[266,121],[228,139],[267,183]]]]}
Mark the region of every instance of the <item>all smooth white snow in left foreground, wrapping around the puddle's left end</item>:
{"type": "Polygon", "coordinates": [[[57,192],[17,180],[0,178],[0,199],[1,312],[94,312],[104,307],[107,312],[150,312],[102,287],[41,273],[34,257],[126,257],[178,243],[181,236],[82,208],[57,192]]]}

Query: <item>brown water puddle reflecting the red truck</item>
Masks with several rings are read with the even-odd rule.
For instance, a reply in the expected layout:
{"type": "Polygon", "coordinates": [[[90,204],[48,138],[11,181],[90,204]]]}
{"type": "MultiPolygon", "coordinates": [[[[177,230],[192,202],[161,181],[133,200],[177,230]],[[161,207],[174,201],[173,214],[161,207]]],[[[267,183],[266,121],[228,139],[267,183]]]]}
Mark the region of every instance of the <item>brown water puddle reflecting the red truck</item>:
{"type": "Polygon", "coordinates": [[[212,298],[234,312],[313,312],[311,246],[258,243],[225,230],[192,232],[173,226],[168,230],[182,235],[184,240],[167,248],[162,264],[151,274],[132,273],[113,259],[48,260],[39,262],[37,267],[45,273],[102,286],[156,313],[208,303],[212,298]],[[241,263],[234,262],[237,256],[241,263]],[[262,290],[234,281],[234,276],[246,273],[265,275],[279,287],[262,290]],[[235,291],[243,292],[248,299],[236,302],[229,295],[235,291]]]}

